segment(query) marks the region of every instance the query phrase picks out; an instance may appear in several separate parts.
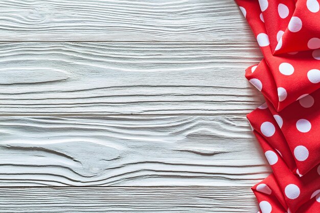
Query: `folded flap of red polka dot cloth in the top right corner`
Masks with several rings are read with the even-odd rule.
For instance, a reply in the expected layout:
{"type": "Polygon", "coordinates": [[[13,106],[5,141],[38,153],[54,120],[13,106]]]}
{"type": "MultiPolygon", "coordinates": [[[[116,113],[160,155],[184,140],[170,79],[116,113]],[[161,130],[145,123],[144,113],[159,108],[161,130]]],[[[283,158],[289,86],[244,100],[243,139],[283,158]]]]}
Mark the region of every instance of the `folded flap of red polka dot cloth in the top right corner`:
{"type": "Polygon", "coordinates": [[[316,0],[259,2],[273,54],[320,48],[316,0]]]}

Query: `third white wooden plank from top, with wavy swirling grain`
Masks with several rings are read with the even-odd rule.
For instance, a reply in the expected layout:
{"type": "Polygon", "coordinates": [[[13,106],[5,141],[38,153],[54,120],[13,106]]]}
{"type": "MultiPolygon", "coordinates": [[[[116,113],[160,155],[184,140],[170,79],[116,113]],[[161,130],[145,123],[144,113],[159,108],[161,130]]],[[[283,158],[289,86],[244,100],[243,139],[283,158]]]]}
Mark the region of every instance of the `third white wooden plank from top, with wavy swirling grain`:
{"type": "Polygon", "coordinates": [[[252,186],[244,116],[1,116],[0,186],[252,186]]]}

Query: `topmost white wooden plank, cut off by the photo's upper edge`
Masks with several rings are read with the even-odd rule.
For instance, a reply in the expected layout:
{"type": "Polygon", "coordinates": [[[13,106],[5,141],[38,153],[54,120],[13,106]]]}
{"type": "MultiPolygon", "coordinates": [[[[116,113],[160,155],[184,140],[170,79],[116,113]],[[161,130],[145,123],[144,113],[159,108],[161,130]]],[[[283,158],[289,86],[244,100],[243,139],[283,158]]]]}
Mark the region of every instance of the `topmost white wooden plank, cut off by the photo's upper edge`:
{"type": "Polygon", "coordinates": [[[243,19],[233,0],[6,0],[0,41],[248,40],[243,19]]]}

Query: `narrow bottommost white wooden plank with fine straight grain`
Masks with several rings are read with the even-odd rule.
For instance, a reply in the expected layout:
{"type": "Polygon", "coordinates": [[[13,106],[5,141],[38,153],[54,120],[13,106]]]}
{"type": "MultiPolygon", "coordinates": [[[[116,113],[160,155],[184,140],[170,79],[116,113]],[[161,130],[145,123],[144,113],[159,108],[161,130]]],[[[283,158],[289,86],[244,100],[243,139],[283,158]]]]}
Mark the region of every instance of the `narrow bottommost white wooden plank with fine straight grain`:
{"type": "Polygon", "coordinates": [[[3,212],[257,212],[248,187],[0,188],[3,212]]]}

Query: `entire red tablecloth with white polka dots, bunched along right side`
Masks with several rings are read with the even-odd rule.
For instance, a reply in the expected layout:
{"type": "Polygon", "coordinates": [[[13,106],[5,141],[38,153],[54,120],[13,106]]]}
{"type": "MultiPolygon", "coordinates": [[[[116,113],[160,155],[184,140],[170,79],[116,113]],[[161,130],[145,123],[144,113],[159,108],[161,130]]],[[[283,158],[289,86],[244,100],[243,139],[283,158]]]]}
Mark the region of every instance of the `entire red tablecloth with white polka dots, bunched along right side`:
{"type": "Polygon", "coordinates": [[[320,0],[236,0],[264,59],[245,77],[265,97],[247,115],[273,174],[260,212],[320,213],[320,0]]]}

